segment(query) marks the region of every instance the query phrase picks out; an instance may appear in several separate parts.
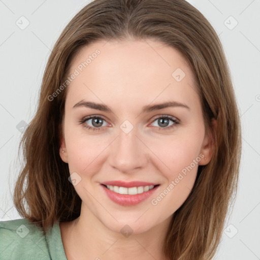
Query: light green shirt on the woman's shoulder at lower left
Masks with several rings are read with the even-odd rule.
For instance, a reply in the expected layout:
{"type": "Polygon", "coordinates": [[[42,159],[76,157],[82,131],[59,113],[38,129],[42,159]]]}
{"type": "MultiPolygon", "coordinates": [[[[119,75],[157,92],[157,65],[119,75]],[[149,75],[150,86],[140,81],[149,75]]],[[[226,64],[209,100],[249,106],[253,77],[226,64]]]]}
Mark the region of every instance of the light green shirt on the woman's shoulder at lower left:
{"type": "Polygon", "coordinates": [[[1,260],[67,260],[59,222],[46,233],[28,219],[0,221],[1,260]]]}

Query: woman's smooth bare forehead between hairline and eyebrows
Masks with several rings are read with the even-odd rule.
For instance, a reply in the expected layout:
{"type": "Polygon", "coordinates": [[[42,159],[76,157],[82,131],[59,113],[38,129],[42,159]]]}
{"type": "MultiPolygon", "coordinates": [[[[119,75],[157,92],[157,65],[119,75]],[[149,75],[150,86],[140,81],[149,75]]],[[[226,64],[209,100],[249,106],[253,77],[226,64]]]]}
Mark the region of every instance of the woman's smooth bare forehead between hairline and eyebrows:
{"type": "Polygon", "coordinates": [[[74,57],[69,75],[75,70],[79,74],[67,93],[73,102],[90,95],[95,101],[103,98],[110,104],[114,100],[129,105],[133,101],[149,104],[169,96],[179,102],[192,102],[197,94],[187,60],[175,48],[155,40],[91,43],[74,57]]]}

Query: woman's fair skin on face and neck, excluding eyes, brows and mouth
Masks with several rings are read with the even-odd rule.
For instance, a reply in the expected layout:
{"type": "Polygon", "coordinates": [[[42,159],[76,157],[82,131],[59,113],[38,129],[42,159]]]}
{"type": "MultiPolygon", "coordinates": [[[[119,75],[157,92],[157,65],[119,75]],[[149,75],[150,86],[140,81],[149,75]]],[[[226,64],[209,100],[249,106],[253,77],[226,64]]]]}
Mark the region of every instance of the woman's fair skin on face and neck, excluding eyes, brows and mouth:
{"type": "Polygon", "coordinates": [[[173,213],[187,199],[198,166],[211,159],[209,135],[205,132],[202,105],[195,77],[176,49],[155,40],[99,41],[84,46],[71,63],[70,73],[96,49],[101,51],[68,86],[60,156],[81,181],[75,189],[82,200],[80,216],[61,222],[61,237],[70,259],[165,259],[163,240],[173,213]],[[177,69],[185,77],[177,82],[177,69]],[[73,106],[80,101],[109,106],[113,113],[73,106]],[[141,113],[146,105],[180,102],[189,107],[168,107],[141,113]],[[103,117],[99,131],[93,120],[103,117]],[[161,115],[178,119],[159,124],[161,115]],[[120,125],[128,120],[133,129],[125,134],[120,125]],[[61,152],[63,150],[63,153],[61,152]],[[193,159],[204,158],[187,172],[157,205],[156,199],[193,159]],[[206,159],[205,159],[206,158],[206,159]],[[148,181],[159,188],[142,203],[121,206],[111,201],[101,183],[111,180],[148,181]],[[133,234],[120,230],[128,225],[133,234]],[[99,257],[99,258],[98,258],[99,257]]]}

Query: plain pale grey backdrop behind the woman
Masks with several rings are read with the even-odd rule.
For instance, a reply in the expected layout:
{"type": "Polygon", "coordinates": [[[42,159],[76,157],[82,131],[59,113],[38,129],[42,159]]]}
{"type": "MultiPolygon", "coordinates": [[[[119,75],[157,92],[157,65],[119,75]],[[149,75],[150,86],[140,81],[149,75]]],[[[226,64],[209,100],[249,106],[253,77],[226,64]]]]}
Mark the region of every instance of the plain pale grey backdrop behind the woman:
{"type": "MultiPolygon", "coordinates": [[[[89,2],[0,0],[0,220],[21,218],[12,193],[23,127],[36,111],[50,50],[89,2]]],[[[260,1],[188,2],[204,14],[223,44],[243,131],[238,196],[215,259],[260,259],[260,1]]]]}

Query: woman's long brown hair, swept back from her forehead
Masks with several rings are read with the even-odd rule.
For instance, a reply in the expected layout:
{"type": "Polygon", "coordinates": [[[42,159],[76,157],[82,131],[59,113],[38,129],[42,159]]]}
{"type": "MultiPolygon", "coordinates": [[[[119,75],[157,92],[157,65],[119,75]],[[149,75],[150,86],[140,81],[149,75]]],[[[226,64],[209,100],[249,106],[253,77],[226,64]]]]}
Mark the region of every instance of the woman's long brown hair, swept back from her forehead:
{"type": "MultiPolygon", "coordinates": [[[[206,129],[212,131],[210,163],[199,166],[187,200],[173,214],[164,243],[169,259],[212,259],[225,217],[237,192],[241,156],[240,120],[228,63],[207,19],[184,0],[95,0],[64,28],[43,76],[35,117],[20,146],[24,157],[14,204],[22,217],[43,230],[80,215],[81,199],[68,181],[68,164],[59,156],[60,125],[72,58],[98,40],[156,39],[179,50],[196,75],[206,129]],[[217,124],[214,128],[211,120],[217,124]],[[25,184],[25,186],[24,186],[25,184]]],[[[19,152],[20,153],[20,152],[19,152]]]]}

